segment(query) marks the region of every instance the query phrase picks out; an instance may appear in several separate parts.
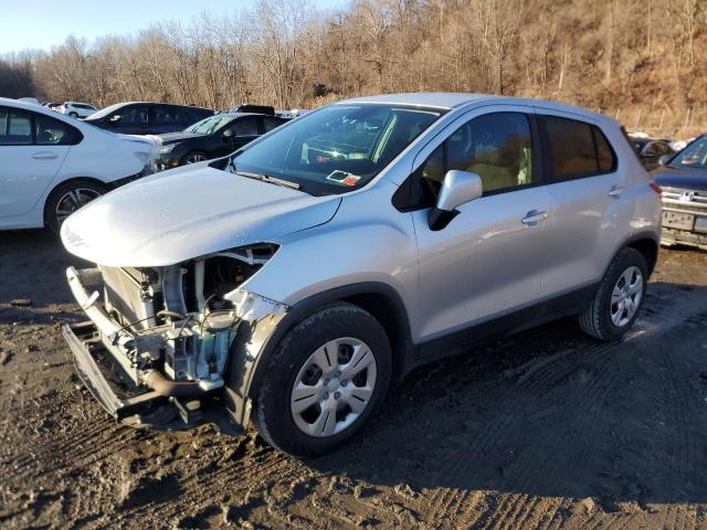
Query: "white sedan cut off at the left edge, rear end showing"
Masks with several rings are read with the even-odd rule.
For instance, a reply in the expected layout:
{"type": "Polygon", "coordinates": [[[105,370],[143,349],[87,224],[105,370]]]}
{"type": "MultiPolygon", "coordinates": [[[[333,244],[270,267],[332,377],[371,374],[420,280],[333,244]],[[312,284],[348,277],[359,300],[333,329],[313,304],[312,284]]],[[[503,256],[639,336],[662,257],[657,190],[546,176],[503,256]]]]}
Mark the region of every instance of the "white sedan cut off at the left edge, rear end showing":
{"type": "Polygon", "coordinates": [[[0,230],[50,226],[149,172],[156,144],[0,98],[0,230]]]}

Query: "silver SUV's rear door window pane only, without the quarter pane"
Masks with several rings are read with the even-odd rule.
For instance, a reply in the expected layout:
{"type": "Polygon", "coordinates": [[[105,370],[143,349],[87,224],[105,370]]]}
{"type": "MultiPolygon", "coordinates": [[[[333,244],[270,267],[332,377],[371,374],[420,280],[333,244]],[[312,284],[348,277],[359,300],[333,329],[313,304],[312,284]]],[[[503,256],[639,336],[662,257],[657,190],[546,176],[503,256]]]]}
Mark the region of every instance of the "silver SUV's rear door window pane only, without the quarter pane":
{"type": "Polygon", "coordinates": [[[577,179],[599,172],[589,124],[546,116],[545,127],[555,180],[577,179]]]}

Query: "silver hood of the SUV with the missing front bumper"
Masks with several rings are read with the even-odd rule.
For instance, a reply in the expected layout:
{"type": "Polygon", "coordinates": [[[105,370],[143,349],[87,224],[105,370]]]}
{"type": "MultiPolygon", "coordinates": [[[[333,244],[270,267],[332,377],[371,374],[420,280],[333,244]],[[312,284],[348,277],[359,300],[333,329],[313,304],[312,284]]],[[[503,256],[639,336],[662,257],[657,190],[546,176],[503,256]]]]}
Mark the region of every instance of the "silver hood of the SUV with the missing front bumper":
{"type": "Polygon", "coordinates": [[[324,224],[340,202],[203,163],[96,199],[64,222],[61,236],[68,252],[101,265],[163,266],[324,224]]]}

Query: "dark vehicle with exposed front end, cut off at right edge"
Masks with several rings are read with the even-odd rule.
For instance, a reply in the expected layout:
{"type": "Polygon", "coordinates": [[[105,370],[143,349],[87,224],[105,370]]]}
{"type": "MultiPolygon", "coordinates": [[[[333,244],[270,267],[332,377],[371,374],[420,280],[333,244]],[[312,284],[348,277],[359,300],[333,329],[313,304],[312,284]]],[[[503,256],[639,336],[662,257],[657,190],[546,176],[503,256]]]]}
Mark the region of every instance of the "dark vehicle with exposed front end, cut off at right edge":
{"type": "Polygon", "coordinates": [[[661,243],[707,250],[707,135],[664,157],[653,177],[663,189],[661,243]]]}

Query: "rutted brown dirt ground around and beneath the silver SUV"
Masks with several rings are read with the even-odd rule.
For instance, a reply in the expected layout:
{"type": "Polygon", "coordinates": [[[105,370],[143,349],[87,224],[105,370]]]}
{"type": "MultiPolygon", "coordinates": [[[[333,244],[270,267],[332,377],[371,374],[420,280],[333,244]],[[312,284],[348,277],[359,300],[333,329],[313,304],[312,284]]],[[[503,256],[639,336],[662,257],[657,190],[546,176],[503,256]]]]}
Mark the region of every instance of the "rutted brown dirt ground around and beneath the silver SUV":
{"type": "Polygon", "coordinates": [[[707,253],[661,252],[622,342],[567,319],[425,367],[308,462],[107,417],[61,337],[74,262],[0,234],[0,527],[707,528],[707,253]]]}

